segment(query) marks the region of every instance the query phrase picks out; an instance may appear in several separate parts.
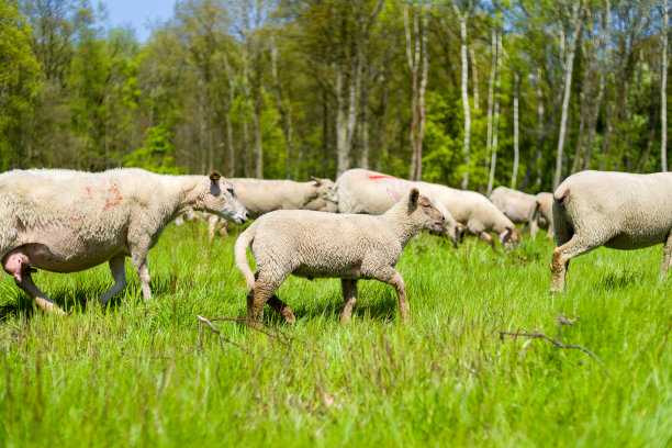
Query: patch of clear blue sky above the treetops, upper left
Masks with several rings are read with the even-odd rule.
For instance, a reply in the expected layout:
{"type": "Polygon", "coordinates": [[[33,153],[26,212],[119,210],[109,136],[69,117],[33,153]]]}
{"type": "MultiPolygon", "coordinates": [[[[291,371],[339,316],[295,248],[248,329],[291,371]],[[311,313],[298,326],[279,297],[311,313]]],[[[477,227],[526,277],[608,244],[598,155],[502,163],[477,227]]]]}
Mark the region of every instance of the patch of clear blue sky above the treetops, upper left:
{"type": "Polygon", "coordinates": [[[150,33],[149,24],[172,16],[175,0],[104,0],[101,3],[108,9],[107,26],[131,25],[137,40],[145,42],[150,33]]]}

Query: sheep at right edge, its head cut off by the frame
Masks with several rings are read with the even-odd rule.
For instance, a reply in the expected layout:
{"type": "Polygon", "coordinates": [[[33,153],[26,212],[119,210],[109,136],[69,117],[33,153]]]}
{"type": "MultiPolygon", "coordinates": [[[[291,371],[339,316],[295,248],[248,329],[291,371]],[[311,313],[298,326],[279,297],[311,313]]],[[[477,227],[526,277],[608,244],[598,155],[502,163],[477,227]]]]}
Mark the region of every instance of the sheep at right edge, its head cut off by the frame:
{"type": "Polygon", "coordinates": [[[631,250],[664,244],[665,278],[672,254],[672,173],[572,175],[553,193],[553,292],[564,290],[570,259],[600,246],[631,250]]]}

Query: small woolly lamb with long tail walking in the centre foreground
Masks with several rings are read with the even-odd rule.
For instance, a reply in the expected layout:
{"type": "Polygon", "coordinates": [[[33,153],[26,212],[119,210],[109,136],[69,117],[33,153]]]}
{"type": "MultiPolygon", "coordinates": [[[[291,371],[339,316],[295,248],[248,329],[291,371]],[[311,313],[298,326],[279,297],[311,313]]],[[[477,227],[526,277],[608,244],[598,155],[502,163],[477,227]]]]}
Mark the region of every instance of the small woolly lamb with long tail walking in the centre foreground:
{"type": "Polygon", "coordinates": [[[345,302],[343,324],[350,321],[358,279],[391,284],[396,289],[403,320],[410,312],[406,289],[394,266],[421,228],[439,231],[444,223],[444,215],[416,188],[379,216],[305,210],[268,213],[243,232],[235,244],[236,267],[250,290],[247,315],[260,321],[264,304],[268,302],[288,324],[294,324],[292,310],[275,294],[292,273],[309,279],[340,278],[345,302]],[[247,264],[246,251],[250,245],[259,269],[257,276],[247,264]]]}

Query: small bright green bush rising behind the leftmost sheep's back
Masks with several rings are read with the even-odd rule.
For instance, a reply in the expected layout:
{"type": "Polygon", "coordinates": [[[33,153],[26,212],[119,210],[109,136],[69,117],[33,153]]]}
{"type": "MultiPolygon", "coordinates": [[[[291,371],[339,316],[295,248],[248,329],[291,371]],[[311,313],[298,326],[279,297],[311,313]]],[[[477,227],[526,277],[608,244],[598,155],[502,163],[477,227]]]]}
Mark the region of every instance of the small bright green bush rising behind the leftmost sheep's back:
{"type": "Polygon", "coordinates": [[[149,127],[143,146],[124,157],[125,167],[144,168],[164,175],[180,175],[184,169],[175,165],[175,134],[164,125],[149,127]]]}

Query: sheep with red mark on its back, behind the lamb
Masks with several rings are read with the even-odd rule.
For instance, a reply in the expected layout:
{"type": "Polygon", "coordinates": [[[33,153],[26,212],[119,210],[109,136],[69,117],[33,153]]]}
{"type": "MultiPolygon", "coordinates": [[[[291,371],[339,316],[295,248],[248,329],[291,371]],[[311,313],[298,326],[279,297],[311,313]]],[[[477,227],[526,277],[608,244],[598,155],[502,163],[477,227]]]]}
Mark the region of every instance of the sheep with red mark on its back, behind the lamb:
{"type": "Polygon", "coordinates": [[[423,182],[412,182],[367,169],[349,169],[336,180],[338,212],[378,215],[399,202],[412,188],[418,188],[445,216],[446,224],[441,233],[448,236],[457,248],[461,240],[462,226],[443,204],[432,198],[432,192],[423,182]]]}

